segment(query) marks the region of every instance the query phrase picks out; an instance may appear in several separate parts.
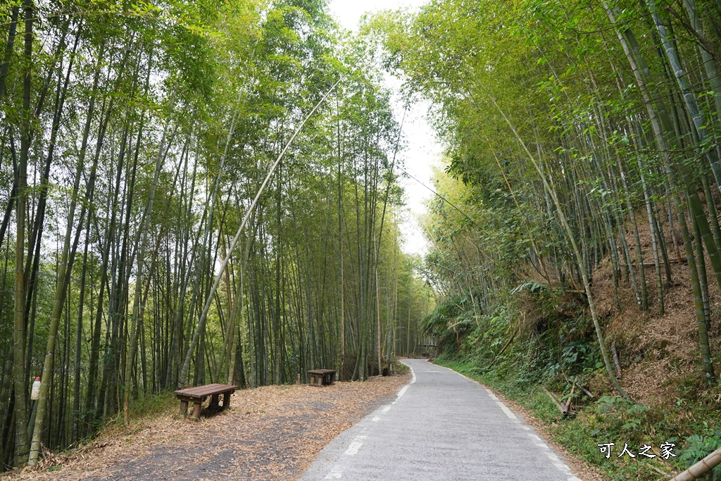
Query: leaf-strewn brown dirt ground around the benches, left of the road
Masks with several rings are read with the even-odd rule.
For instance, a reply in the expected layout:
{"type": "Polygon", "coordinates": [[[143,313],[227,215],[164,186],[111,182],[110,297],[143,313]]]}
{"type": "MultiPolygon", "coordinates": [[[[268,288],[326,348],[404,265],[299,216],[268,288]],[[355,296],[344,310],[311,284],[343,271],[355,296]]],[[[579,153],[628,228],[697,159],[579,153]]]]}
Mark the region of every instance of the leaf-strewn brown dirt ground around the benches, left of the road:
{"type": "MultiPolygon", "coordinates": [[[[316,454],[394,397],[410,375],[238,391],[199,422],[176,411],[107,433],[9,480],[295,480],[316,454]]],[[[178,402],[180,407],[180,402],[178,402]]]]}

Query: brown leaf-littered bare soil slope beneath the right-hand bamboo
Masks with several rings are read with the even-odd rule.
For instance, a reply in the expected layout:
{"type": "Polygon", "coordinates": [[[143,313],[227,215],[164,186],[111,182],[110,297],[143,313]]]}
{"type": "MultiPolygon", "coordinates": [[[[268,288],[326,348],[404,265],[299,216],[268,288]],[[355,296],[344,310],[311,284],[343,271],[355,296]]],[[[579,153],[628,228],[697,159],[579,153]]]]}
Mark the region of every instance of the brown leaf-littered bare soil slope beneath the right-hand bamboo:
{"type": "MultiPolygon", "coordinates": [[[[645,405],[663,405],[675,400],[678,394],[674,381],[683,376],[691,376],[694,379],[703,377],[700,369],[694,295],[681,235],[675,234],[681,254],[681,262],[678,262],[671,231],[666,226],[663,237],[667,244],[668,256],[673,263],[671,283],[669,283],[665,277],[663,260],[660,260],[664,314],[659,315],[653,244],[647,223],[639,225],[639,234],[645,265],[648,311],[644,312],[638,306],[632,283],[625,272],[619,282],[619,301],[622,311],[616,309],[614,282],[608,260],[606,265],[593,275],[593,295],[596,298],[599,317],[606,326],[606,335],[615,341],[619,350],[622,387],[637,402],[645,405]]],[[[630,255],[635,263],[636,247],[631,229],[627,229],[626,237],[630,255]]],[[[709,343],[711,352],[717,353],[721,349],[720,323],[717,316],[721,308],[721,292],[708,257],[706,257],[706,265],[709,306],[712,313],[709,343]]],[[[634,265],[634,271],[637,282],[640,283],[637,265],[634,265]]],[[[718,368],[718,364],[716,367],[718,368]]]]}

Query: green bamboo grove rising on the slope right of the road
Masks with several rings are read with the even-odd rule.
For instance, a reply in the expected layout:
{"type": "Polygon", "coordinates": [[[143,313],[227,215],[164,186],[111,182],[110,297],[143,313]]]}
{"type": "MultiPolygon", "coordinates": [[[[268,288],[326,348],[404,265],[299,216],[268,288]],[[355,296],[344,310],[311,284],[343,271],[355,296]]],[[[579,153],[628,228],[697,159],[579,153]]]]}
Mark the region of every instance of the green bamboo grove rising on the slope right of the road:
{"type": "MultiPolygon", "coordinates": [[[[663,315],[671,266],[685,265],[700,376],[716,383],[719,25],[714,0],[438,0],[371,22],[407,91],[435,105],[455,179],[438,177],[457,209],[436,199],[426,224],[443,296],[429,332],[453,341],[524,288],[582,294],[598,359],[627,397],[594,274],[611,266],[617,311],[622,292],[663,315]]],[[[511,311],[503,330],[491,322],[503,340],[511,311]]]]}

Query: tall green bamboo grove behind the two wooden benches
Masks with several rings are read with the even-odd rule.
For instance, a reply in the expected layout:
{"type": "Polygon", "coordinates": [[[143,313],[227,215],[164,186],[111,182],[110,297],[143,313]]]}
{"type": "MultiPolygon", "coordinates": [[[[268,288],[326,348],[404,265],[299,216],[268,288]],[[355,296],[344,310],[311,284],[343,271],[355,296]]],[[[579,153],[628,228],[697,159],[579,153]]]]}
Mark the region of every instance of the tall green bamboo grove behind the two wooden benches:
{"type": "Polygon", "coordinates": [[[0,3],[2,467],[149,393],[416,350],[402,128],[325,9],[0,3]]]}

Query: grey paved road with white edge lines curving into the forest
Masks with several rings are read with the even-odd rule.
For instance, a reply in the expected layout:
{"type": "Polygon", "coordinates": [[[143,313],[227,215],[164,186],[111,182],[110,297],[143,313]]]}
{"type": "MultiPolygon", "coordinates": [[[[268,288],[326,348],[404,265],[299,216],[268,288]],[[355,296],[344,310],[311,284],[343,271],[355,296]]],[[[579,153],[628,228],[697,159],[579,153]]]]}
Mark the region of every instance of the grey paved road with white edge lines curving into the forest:
{"type": "Polygon", "coordinates": [[[343,432],[301,481],[580,481],[492,392],[422,359],[394,402],[343,432]]]}

